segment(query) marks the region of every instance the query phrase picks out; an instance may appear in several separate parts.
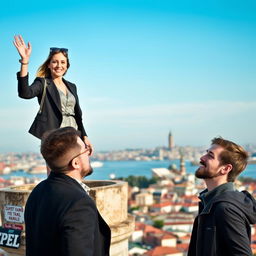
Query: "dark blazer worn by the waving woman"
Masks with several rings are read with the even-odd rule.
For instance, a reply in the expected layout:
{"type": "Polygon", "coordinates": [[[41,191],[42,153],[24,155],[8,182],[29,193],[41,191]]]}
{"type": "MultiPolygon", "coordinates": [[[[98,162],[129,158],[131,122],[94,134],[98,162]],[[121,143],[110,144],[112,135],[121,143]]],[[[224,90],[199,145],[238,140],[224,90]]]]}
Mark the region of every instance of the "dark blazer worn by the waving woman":
{"type": "MultiPolygon", "coordinates": [[[[19,97],[23,99],[31,99],[37,97],[40,104],[44,90],[44,78],[37,77],[30,86],[28,84],[28,75],[25,77],[20,77],[20,73],[17,73],[17,79],[19,97]]],[[[79,106],[76,86],[75,84],[72,84],[65,79],[63,79],[63,81],[76,99],[75,119],[78,130],[81,132],[81,136],[87,136],[82,122],[82,111],[79,106]]],[[[37,138],[41,139],[44,132],[59,128],[61,122],[62,112],[60,96],[52,79],[47,79],[47,89],[42,113],[36,115],[35,120],[29,129],[29,132],[37,138]]]]}

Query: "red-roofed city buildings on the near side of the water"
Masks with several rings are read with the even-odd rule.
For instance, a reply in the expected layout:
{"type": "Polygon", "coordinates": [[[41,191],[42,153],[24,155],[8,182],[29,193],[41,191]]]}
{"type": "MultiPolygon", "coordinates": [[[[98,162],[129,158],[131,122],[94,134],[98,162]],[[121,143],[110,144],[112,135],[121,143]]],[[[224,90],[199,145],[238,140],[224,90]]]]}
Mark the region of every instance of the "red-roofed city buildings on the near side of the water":
{"type": "MultiPolygon", "coordinates": [[[[198,213],[197,195],[205,184],[186,173],[184,159],[179,168],[154,168],[157,180],[147,188],[130,187],[129,211],[135,216],[129,255],[175,255],[188,252],[193,222],[198,213]]],[[[255,182],[236,181],[238,190],[256,197],[255,182]]],[[[251,248],[256,253],[256,225],[252,226],[251,248]]]]}

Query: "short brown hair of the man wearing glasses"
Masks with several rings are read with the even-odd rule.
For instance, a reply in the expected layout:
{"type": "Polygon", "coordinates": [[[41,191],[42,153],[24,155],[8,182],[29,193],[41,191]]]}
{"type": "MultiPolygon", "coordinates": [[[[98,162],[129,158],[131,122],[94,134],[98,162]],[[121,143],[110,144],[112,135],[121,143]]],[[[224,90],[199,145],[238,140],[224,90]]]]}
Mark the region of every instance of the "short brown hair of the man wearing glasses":
{"type": "Polygon", "coordinates": [[[73,127],[64,127],[46,132],[41,141],[41,154],[54,172],[65,172],[68,160],[65,159],[72,149],[79,149],[77,138],[80,132],[73,127]],[[64,159],[64,161],[63,161],[64,159]]]}

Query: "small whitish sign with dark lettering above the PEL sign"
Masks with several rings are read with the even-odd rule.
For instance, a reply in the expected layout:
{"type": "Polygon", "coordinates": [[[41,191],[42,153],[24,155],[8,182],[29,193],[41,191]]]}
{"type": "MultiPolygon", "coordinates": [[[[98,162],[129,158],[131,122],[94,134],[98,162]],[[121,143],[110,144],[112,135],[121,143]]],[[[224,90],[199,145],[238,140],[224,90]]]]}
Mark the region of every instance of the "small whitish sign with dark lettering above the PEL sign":
{"type": "Polygon", "coordinates": [[[5,205],[4,218],[8,222],[24,223],[24,208],[17,205],[5,205]]]}

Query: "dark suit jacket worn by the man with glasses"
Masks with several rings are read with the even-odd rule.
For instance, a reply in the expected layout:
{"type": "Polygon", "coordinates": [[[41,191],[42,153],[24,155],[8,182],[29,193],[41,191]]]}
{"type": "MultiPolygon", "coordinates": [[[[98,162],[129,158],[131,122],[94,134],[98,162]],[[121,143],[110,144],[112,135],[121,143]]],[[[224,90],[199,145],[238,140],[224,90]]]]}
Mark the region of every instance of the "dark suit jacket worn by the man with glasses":
{"type": "Polygon", "coordinates": [[[107,256],[110,229],[81,185],[54,174],[31,192],[25,207],[27,256],[107,256]]]}

